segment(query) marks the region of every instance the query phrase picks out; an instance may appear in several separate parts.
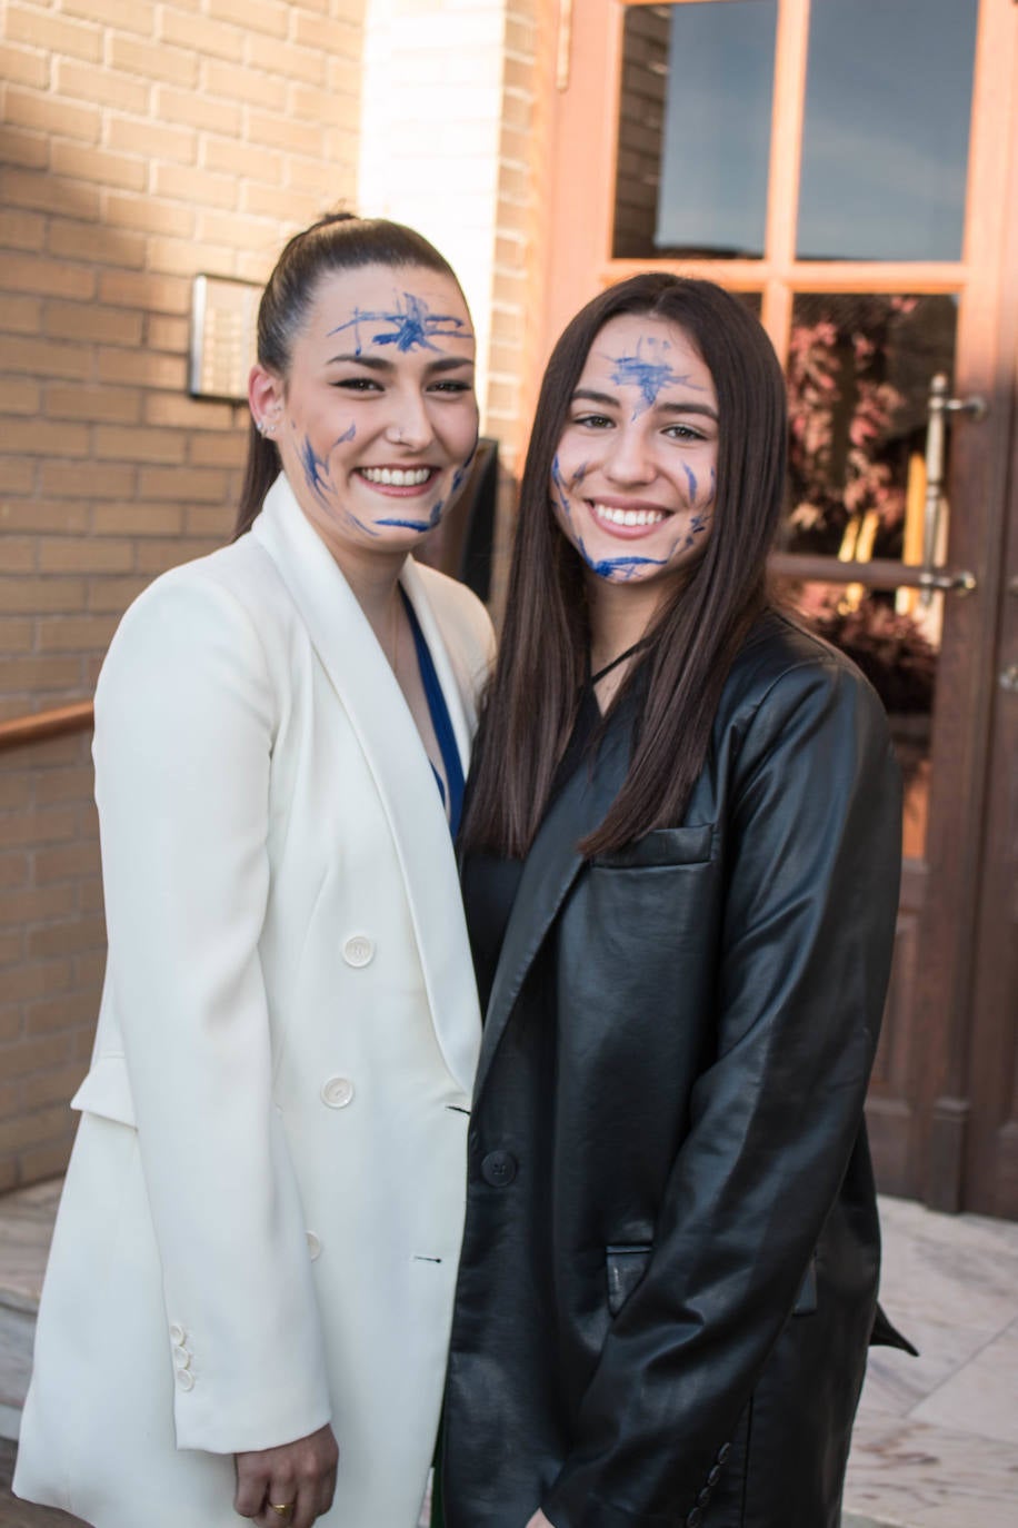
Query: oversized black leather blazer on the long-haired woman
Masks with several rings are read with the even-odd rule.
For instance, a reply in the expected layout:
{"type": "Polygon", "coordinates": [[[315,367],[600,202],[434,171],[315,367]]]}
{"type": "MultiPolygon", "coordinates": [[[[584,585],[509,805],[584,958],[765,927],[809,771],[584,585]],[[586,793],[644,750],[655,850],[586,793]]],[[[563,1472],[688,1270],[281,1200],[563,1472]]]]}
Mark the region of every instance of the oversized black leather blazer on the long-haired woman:
{"type": "Polygon", "coordinates": [[[862,1103],[900,792],[881,704],[765,616],[682,822],[583,862],[621,707],[523,868],[485,1019],[447,1528],[836,1528],[879,1227],[862,1103]]]}

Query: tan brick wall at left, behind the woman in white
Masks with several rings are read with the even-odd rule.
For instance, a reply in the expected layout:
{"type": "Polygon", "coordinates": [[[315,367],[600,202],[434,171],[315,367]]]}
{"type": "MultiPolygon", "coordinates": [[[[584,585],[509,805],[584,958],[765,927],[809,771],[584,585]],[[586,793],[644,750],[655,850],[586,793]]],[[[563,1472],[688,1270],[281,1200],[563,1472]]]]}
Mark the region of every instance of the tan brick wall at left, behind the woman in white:
{"type": "MultiPolygon", "coordinates": [[[[365,0],[0,8],[0,720],[229,533],[246,411],[186,396],[191,278],[357,185],[365,0]]],[[[0,753],[0,1190],[60,1172],[104,958],[87,735],[0,753]]]]}

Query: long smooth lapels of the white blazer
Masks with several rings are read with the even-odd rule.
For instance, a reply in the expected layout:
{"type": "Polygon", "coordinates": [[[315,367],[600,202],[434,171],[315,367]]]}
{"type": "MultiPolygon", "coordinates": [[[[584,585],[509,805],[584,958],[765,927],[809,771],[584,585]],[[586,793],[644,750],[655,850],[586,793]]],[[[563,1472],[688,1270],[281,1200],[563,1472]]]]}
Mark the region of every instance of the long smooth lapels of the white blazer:
{"type": "MultiPolygon", "coordinates": [[[[285,477],[266,495],[250,535],[276,564],[374,775],[403,868],[438,1044],[470,1094],[481,1042],[470,941],[449,824],[417,726],[366,616],[285,477]]],[[[401,581],[432,651],[466,772],[469,729],[446,646],[420,575],[408,567],[401,581]]]]}

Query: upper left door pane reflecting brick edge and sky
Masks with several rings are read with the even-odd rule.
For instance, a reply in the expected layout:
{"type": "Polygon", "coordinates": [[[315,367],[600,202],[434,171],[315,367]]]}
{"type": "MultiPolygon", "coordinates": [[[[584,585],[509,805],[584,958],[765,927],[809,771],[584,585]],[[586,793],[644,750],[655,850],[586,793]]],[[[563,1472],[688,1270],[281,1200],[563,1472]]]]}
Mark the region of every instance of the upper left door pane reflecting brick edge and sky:
{"type": "Polygon", "coordinates": [[[617,260],[763,254],[777,0],[630,6],[617,260]]]}

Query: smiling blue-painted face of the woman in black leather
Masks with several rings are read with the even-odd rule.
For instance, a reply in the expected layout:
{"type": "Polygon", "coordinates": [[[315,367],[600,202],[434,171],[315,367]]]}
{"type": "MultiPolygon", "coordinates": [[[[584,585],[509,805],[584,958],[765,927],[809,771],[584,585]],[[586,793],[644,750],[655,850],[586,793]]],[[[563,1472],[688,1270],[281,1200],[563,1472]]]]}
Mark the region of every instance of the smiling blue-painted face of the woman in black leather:
{"type": "Polygon", "coordinates": [[[551,471],[560,530],[589,576],[664,588],[711,532],[717,397],[678,324],[609,319],[577,382],[551,471]]]}

